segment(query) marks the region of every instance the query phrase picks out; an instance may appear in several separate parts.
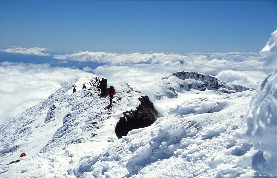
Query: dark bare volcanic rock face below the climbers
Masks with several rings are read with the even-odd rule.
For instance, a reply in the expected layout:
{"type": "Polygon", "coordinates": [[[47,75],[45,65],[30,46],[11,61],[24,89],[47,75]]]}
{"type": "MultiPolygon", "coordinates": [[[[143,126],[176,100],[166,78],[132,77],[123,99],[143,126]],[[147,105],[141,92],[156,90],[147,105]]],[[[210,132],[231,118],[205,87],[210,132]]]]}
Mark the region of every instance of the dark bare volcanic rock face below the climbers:
{"type": "Polygon", "coordinates": [[[141,97],[139,101],[140,105],[137,107],[137,110],[124,112],[124,117],[120,117],[119,122],[117,122],[115,128],[117,138],[126,136],[128,132],[133,129],[148,127],[152,125],[158,117],[162,117],[154,108],[148,96],[141,97]]]}

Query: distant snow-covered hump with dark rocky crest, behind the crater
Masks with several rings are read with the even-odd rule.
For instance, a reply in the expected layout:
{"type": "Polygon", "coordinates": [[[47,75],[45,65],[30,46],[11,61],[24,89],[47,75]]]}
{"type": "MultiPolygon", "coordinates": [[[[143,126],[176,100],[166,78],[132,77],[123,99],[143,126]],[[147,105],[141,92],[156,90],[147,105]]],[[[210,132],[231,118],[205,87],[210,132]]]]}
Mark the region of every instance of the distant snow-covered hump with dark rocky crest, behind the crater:
{"type": "Polygon", "coordinates": [[[222,93],[235,93],[248,90],[249,88],[240,85],[228,84],[211,75],[204,75],[198,72],[181,71],[161,76],[153,82],[138,86],[142,93],[147,94],[151,100],[158,100],[162,97],[176,98],[178,92],[197,89],[216,90],[222,93]]]}

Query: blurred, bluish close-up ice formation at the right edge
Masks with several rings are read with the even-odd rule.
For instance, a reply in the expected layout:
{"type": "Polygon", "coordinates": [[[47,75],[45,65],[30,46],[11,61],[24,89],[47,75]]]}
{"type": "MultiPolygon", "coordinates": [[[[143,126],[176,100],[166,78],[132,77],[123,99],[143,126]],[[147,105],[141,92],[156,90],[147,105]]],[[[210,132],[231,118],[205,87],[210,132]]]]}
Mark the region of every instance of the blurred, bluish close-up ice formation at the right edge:
{"type": "Polygon", "coordinates": [[[257,89],[257,94],[245,116],[242,136],[259,150],[253,157],[252,168],[263,174],[277,175],[277,70],[257,89]],[[260,155],[260,158],[258,158],[260,155]]]}

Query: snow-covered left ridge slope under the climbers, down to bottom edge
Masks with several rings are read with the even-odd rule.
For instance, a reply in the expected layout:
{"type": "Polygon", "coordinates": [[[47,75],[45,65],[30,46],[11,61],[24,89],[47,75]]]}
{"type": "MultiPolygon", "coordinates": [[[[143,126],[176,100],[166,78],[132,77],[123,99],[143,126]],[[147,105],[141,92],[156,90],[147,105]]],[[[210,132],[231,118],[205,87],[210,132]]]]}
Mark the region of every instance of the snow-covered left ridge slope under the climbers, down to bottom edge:
{"type": "Polygon", "coordinates": [[[44,102],[22,113],[20,125],[17,118],[2,125],[1,176],[75,177],[82,156],[94,155],[103,145],[118,140],[114,128],[119,118],[124,111],[135,110],[144,95],[132,91],[126,82],[114,81],[118,93],[110,109],[108,97],[100,98],[100,92],[89,87],[89,81],[95,77],[81,77],[66,84],[44,102]],[[83,84],[88,88],[81,89],[83,84]],[[27,159],[20,164],[5,165],[19,159],[22,152],[26,152],[27,159]],[[29,165],[26,171],[23,165],[29,165]]]}

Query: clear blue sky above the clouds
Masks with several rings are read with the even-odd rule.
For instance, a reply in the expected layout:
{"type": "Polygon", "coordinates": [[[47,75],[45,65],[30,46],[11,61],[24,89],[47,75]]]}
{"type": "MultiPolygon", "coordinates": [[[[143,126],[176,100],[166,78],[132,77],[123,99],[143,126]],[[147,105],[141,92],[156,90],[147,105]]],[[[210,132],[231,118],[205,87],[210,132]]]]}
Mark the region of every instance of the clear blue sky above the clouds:
{"type": "Polygon", "coordinates": [[[0,45],[7,46],[259,52],[277,29],[277,1],[1,0],[0,19],[0,45]]]}

